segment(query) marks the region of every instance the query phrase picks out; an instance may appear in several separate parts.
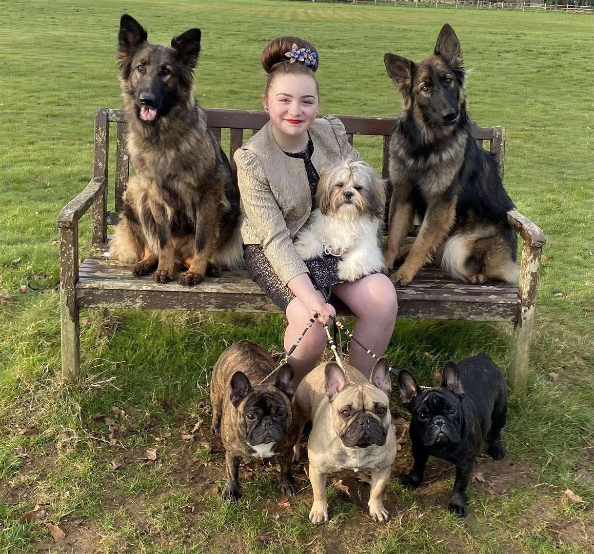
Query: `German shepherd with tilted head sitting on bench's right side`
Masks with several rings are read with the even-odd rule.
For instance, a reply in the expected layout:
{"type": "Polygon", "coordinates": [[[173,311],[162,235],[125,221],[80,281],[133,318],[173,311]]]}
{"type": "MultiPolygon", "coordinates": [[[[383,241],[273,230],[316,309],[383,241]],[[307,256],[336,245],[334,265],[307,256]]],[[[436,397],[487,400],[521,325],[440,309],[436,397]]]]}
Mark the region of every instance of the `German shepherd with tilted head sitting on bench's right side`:
{"type": "Polygon", "coordinates": [[[516,283],[516,236],[506,215],[514,204],[495,159],[470,132],[456,33],[445,24],[433,55],[422,62],[387,53],[384,63],[404,99],[390,141],[393,192],[384,268],[407,254],[392,277],[406,285],[435,255],[454,278],[516,283]],[[422,222],[407,245],[415,213],[422,222]]]}

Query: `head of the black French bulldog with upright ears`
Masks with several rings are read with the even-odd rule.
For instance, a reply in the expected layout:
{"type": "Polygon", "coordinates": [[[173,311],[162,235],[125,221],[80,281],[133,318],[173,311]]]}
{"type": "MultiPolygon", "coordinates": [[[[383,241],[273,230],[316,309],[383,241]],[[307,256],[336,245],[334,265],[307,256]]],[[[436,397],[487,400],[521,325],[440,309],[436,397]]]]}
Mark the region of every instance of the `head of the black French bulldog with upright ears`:
{"type": "Polygon", "coordinates": [[[410,425],[426,447],[460,442],[464,390],[456,364],[445,365],[441,387],[422,390],[407,371],[399,373],[398,384],[402,403],[412,415],[410,425]]]}

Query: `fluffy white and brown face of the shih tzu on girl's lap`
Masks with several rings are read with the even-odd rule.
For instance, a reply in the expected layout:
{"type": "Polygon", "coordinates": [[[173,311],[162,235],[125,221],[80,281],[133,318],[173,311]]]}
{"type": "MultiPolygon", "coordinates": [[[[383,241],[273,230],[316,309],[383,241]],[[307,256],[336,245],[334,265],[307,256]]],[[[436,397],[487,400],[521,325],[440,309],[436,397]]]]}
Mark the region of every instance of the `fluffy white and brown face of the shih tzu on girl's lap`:
{"type": "Polygon", "coordinates": [[[381,218],[386,185],[369,164],[346,160],[320,178],[315,199],[324,216],[381,218]]]}

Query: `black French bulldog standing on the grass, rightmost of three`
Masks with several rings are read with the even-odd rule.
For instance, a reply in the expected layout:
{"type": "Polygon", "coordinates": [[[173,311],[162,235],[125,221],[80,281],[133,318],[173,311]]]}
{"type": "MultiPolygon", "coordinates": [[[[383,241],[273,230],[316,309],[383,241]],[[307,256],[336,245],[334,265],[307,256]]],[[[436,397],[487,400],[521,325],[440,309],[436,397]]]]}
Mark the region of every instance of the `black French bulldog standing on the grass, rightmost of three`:
{"type": "Polygon", "coordinates": [[[403,481],[420,485],[429,455],[456,464],[448,509],[466,517],[466,487],[489,428],[489,455],[494,460],[505,455],[501,429],[507,416],[507,391],[501,369],[486,354],[478,354],[447,362],[440,387],[419,388],[406,370],[399,373],[398,386],[400,400],[412,415],[409,436],[415,458],[403,481]]]}

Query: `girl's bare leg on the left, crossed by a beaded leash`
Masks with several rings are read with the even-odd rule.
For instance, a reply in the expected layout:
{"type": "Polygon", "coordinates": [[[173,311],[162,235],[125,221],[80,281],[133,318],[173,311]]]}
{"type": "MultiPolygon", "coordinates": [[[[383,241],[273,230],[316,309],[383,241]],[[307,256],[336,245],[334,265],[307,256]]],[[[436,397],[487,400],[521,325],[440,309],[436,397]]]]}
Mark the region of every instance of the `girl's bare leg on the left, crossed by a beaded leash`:
{"type": "MultiPolygon", "coordinates": [[[[286,316],[288,325],[285,330],[285,352],[289,352],[307,326],[311,314],[308,313],[301,300],[294,298],[287,306],[286,316]]],[[[289,363],[295,371],[295,388],[298,387],[301,379],[314,369],[315,365],[320,361],[325,347],[326,333],[324,328],[316,323],[308,329],[301,343],[289,358],[289,363]]]]}

